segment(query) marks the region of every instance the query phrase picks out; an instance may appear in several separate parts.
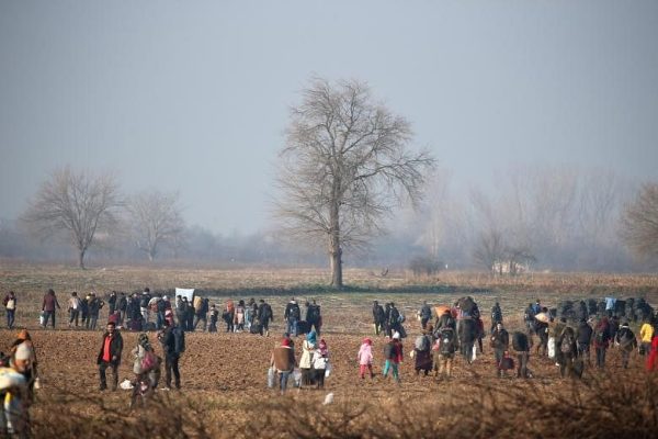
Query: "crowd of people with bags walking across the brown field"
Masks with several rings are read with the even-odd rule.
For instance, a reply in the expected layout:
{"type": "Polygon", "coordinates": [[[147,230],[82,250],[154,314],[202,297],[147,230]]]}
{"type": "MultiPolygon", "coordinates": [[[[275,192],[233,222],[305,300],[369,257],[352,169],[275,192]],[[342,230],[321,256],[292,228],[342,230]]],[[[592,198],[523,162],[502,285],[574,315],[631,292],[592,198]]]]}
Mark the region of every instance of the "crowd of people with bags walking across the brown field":
{"type": "MultiPolygon", "coordinates": [[[[9,292],[3,304],[8,312],[8,327],[13,328],[16,295],[9,292]]],[[[222,318],[227,333],[245,331],[269,336],[269,325],[274,322],[272,306],[264,299],[258,302],[254,299],[247,302],[239,300],[237,303],[227,300],[224,305],[218,306],[202,296],[194,296],[192,301],[177,296],[172,303],[164,294],[151,294],[148,288],[129,296],[111,292],[104,299],[98,297],[93,292],[86,297],[72,292],[67,305],[69,327],[86,329],[95,329],[101,309],[107,307],[109,317],[97,356],[99,389],[102,392],[115,391],[120,385],[118,368],[124,350],[121,329],[139,333],[137,345],[131,350],[135,375],[129,383],[133,389],[132,405],[146,402],[158,389],[162,367],[162,389],[181,389],[179,360],[185,352],[185,333],[216,333],[217,323],[222,318]],[[150,331],[155,331],[152,339],[150,331]],[[160,344],[162,357],[156,353],[155,342],[160,344]]],[[[654,313],[644,315],[642,322],[638,322],[638,339],[631,328],[631,322],[623,318],[619,309],[605,306],[602,305],[593,314],[590,313],[591,308],[580,307],[587,313],[580,314],[580,318],[576,320],[566,313],[558,315],[555,309],[549,309],[537,300],[534,304],[529,304],[524,312],[525,326],[510,334],[503,323],[502,307],[496,302],[491,308],[491,326],[487,335],[479,306],[473,297],[461,297],[450,306],[431,306],[423,302],[417,313],[420,334],[409,350],[413,370],[418,375],[434,372],[438,379],[451,380],[456,364],[455,357],[461,354],[464,361],[460,364],[468,368],[478,356],[484,354],[483,340],[488,340],[495,360],[495,372],[499,378],[508,376],[514,370],[517,378],[533,378],[529,364],[531,353],[534,352],[537,358],[555,361],[559,367],[559,376],[578,379],[586,367],[604,369],[606,351],[611,347],[619,348],[624,369],[629,367],[632,352],[637,350],[640,356],[646,357],[647,371],[658,370],[658,319],[654,313]],[[594,351],[594,362],[590,356],[591,350],[594,351]]],[[[48,290],[42,303],[43,328],[48,324],[56,327],[55,316],[59,308],[55,292],[48,290]]],[[[276,342],[272,350],[269,370],[269,385],[273,387],[277,381],[281,393],[286,392],[291,380],[300,389],[324,389],[325,378],[331,373],[328,342],[320,337],[320,306],[315,300],[307,301],[305,311],[305,319],[302,319],[302,307],[295,297],[286,303],[283,311],[285,333],[281,342],[276,342]],[[297,359],[295,339],[298,336],[304,338],[297,359]]],[[[381,372],[375,370],[379,356],[373,350],[373,339],[365,337],[358,351],[355,349],[359,376],[361,380],[366,376],[374,380],[377,375],[387,380],[390,376],[399,384],[400,363],[405,359],[404,340],[407,338],[407,330],[402,325],[405,315],[395,303],[382,306],[378,301],[373,303],[372,315],[374,335],[386,337],[381,352],[381,372]]],[[[635,326],[637,322],[633,323],[635,326]]],[[[27,408],[34,401],[34,389],[38,385],[36,352],[30,334],[21,330],[10,347],[9,354],[1,357],[0,375],[11,376],[13,380],[2,381],[12,384],[0,389],[0,396],[5,401],[4,410],[0,410],[2,431],[20,434],[29,421],[27,408]],[[8,405],[8,401],[13,401],[13,405],[8,405]],[[8,410],[8,407],[11,409],[8,410]],[[16,413],[21,416],[16,416],[16,413]]]]}

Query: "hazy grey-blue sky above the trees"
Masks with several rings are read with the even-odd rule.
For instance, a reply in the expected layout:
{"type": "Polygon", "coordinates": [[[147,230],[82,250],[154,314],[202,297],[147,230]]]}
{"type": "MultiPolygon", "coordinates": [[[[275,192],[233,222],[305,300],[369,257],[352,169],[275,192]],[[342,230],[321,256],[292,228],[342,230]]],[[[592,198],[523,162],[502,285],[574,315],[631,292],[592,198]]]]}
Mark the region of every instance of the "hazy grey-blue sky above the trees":
{"type": "Polygon", "coordinates": [[[57,167],[266,227],[288,108],[367,81],[462,182],[548,162],[658,178],[657,1],[0,0],[0,217],[57,167]]]}

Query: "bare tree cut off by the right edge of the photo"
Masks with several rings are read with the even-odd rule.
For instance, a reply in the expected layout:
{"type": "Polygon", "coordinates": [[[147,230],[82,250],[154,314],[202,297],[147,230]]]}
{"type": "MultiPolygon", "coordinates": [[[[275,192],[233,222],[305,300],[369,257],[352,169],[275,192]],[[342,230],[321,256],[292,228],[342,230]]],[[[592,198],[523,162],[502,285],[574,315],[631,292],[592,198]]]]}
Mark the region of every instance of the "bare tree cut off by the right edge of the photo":
{"type": "Polygon", "coordinates": [[[622,236],[639,256],[658,257],[658,183],[645,183],[622,218],[622,236]]]}

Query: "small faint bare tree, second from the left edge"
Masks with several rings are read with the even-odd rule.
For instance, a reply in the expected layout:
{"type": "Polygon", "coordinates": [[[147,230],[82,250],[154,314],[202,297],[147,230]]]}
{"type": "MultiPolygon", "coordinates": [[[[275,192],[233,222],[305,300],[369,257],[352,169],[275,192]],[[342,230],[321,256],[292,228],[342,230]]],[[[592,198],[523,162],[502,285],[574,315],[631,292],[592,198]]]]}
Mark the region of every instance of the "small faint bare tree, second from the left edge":
{"type": "Polygon", "coordinates": [[[140,192],[131,198],[126,207],[133,240],[150,261],[161,245],[169,244],[174,249],[181,246],[184,221],[178,193],[140,192]]]}

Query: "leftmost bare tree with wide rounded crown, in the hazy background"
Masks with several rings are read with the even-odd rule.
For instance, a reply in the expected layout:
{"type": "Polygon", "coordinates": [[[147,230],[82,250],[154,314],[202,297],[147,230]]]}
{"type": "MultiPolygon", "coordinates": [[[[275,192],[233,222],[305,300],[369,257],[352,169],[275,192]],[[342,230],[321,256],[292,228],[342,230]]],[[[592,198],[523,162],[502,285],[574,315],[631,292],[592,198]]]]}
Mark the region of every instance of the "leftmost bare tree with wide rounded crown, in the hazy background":
{"type": "Polygon", "coordinates": [[[120,205],[113,176],[76,172],[67,166],[42,183],[23,218],[42,237],[69,233],[78,250],[78,264],[84,268],[84,254],[95,234],[115,223],[120,205]]]}

